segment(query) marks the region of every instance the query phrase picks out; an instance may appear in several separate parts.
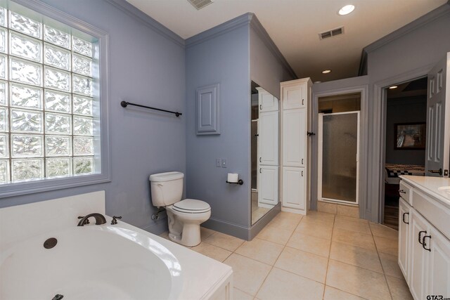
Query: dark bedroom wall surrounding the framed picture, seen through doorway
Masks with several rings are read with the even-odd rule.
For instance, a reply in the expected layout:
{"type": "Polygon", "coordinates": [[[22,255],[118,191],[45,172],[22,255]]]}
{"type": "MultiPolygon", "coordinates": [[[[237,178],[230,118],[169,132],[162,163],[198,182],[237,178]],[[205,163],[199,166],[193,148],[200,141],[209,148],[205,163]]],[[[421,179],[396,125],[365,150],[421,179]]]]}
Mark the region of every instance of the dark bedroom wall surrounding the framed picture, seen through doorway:
{"type": "Polygon", "coordinates": [[[395,150],[394,124],[427,121],[427,96],[387,99],[386,163],[425,165],[425,150],[395,150]]]}

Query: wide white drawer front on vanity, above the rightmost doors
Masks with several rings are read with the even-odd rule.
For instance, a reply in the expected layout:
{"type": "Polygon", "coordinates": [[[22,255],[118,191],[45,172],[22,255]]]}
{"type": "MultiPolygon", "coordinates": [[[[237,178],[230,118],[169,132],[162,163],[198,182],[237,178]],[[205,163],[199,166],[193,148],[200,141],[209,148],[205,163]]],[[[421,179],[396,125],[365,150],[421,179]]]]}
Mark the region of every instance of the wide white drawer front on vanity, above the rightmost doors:
{"type": "Polygon", "coordinates": [[[418,190],[412,191],[412,198],[414,209],[450,239],[450,209],[418,190]]]}

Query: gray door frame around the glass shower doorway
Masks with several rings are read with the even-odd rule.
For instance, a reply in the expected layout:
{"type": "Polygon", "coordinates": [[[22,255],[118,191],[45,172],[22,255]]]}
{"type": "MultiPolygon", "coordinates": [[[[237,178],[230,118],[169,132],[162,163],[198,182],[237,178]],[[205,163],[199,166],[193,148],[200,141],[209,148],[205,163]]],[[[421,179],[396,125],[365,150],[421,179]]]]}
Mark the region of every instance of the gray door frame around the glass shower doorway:
{"type": "MultiPolygon", "coordinates": [[[[359,142],[359,217],[362,219],[371,219],[366,214],[367,204],[367,185],[368,185],[368,112],[369,112],[369,86],[363,84],[359,86],[351,86],[340,89],[329,89],[327,91],[314,92],[311,105],[311,129],[312,132],[319,132],[319,98],[327,96],[340,96],[348,93],[361,93],[360,106],[360,142],[359,142]]],[[[311,208],[317,209],[318,200],[318,171],[319,171],[319,143],[317,138],[313,138],[311,142],[311,208]]]]}

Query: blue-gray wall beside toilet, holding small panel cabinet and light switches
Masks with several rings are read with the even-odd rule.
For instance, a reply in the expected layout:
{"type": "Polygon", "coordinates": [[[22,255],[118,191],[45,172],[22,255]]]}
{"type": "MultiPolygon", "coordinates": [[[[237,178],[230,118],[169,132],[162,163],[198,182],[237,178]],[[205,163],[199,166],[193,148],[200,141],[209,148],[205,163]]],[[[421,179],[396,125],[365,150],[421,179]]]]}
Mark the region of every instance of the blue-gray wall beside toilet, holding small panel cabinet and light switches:
{"type": "Polygon", "coordinates": [[[186,195],[210,204],[205,226],[245,238],[250,226],[249,27],[242,22],[221,32],[226,26],[186,40],[186,195]],[[195,89],[210,84],[220,84],[220,134],[197,136],[195,89]],[[217,158],[226,159],[227,167],[216,167],[217,158]],[[238,173],[244,184],[226,183],[229,172],[238,173]]]}

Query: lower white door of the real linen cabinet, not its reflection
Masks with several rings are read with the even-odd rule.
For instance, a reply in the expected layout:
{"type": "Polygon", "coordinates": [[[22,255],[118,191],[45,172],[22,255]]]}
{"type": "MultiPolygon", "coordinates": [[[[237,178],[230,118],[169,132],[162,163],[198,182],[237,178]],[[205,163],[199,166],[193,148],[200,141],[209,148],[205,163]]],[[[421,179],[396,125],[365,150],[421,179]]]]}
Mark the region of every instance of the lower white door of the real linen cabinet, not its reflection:
{"type": "Polygon", "coordinates": [[[302,210],[306,208],[305,176],[304,168],[283,167],[283,207],[302,210]]]}

